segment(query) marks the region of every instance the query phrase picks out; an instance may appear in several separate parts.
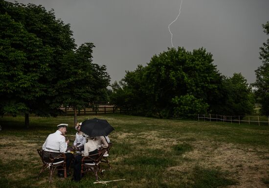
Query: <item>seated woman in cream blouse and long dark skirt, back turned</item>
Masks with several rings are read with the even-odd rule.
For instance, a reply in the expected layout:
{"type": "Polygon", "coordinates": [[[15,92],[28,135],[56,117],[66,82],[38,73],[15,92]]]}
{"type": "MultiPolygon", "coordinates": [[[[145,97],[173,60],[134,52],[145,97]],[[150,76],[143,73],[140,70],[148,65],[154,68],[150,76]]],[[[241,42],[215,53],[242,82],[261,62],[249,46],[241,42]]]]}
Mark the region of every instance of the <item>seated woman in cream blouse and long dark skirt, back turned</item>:
{"type": "MultiPolygon", "coordinates": [[[[84,156],[89,156],[92,154],[98,153],[98,142],[95,137],[90,137],[83,133],[83,136],[87,139],[87,143],[84,145],[84,156]]],[[[72,180],[78,182],[82,178],[81,174],[81,161],[84,157],[82,155],[78,155],[74,160],[74,174],[72,180]]]]}

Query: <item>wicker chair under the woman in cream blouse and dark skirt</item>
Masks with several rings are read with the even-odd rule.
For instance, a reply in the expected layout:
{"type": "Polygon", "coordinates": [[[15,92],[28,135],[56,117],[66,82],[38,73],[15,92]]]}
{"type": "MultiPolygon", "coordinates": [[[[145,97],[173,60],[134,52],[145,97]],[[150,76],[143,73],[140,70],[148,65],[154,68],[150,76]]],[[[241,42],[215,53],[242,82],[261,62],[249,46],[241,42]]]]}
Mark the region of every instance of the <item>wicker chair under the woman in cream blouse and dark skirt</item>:
{"type": "Polygon", "coordinates": [[[105,148],[100,149],[98,151],[98,153],[96,153],[96,154],[92,154],[92,155],[83,157],[82,161],[81,161],[81,174],[83,174],[85,172],[92,171],[95,175],[96,181],[98,181],[98,174],[97,173],[100,172],[101,175],[103,176],[102,169],[100,167],[100,163],[101,163],[101,159],[106,151],[107,150],[105,148]]]}

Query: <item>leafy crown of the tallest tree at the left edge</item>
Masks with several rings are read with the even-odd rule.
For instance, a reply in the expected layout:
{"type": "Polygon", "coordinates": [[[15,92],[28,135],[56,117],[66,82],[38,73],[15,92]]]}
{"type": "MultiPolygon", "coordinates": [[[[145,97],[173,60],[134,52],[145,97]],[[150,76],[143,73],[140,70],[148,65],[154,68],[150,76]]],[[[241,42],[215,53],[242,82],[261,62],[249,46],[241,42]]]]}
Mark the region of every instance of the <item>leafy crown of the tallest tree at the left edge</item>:
{"type": "Polygon", "coordinates": [[[69,25],[41,5],[0,1],[0,111],[55,115],[53,83],[66,50],[69,25]]]}

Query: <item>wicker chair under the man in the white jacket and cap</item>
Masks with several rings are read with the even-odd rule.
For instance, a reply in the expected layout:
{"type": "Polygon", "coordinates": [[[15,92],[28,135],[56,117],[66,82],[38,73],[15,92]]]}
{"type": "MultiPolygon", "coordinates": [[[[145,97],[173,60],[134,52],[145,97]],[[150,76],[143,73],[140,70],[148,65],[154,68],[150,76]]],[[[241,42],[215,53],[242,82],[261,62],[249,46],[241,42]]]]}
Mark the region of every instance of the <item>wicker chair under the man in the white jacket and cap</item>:
{"type": "Polygon", "coordinates": [[[64,170],[64,177],[67,177],[67,168],[66,168],[66,155],[64,153],[57,153],[51,151],[44,151],[42,149],[37,149],[39,156],[43,162],[43,167],[37,177],[40,177],[40,174],[46,169],[49,169],[49,183],[52,179],[52,174],[55,170],[64,170]]]}

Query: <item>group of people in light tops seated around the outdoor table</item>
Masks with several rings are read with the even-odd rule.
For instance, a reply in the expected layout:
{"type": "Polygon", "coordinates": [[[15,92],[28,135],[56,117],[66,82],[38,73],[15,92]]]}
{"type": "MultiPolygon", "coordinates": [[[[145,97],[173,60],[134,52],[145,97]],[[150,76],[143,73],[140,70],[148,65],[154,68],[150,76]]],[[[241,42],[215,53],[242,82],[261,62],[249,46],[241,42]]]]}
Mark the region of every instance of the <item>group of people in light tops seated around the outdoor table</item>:
{"type": "MultiPolygon", "coordinates": [[[[79,181],[82,178],[81,174],[82,158],[84,156],[96,154],[98,152],[98,149],[107,148],[109,146],[108,143],[110,143],[110,140],[108,136],[90,137],[89,135],[84,134],[83,132],[80,131],[81,123],[79,123],[75,127],[77,132],[72,148],[81,151],[83,156],[77,155],[74,157],[74,155],[71,152],[68,152],[69,140],[66,140],[66,137],[64,136],[67,133],[67,126],[68,124],[57,125],[58,129],[56,130],[55,133],[48,135],[42,148],[45,151],[65,153],[67,175],[70,174],[69,167],[71,165],[71,162],[73,161],[74,173],[72,180],[79,181]]],[[[64,177],[64,171],[58,170],[58,176],[64,177]]]]}

